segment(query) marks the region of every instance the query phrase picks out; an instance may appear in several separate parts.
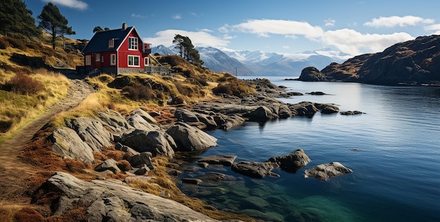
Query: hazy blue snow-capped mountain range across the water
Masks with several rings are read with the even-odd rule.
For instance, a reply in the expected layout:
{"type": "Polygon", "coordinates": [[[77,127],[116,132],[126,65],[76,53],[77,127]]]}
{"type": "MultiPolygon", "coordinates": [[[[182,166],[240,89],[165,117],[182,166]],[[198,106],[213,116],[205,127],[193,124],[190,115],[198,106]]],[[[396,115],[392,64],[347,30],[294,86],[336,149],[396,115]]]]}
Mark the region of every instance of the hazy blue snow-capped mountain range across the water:
{"type": "MultiPolygon", "coordinates": [[[[219,48],[196,47],[205,67],[214,72],[229,72],[241,76],[299,77],[304,67],[322,69],[329,63],[343,63],[351,56],[330,48],[295,54],[266,53],[264,51],[221,51],[219,48]]],[[[177,55],[173,46],[152,48],[152,53],[177,55]]]]}

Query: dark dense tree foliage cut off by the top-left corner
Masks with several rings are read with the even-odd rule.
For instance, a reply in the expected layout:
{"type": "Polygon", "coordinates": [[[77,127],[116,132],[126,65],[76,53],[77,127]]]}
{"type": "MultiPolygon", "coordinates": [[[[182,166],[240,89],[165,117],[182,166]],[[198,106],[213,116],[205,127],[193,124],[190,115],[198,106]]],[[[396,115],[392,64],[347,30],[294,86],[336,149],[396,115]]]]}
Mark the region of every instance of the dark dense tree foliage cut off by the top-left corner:
{"type": "Polygon", "coordinates": [[[21,0],[0,1],[0,33],[11,37],[34,37],[41,34],[32,11],[21,0]]]}

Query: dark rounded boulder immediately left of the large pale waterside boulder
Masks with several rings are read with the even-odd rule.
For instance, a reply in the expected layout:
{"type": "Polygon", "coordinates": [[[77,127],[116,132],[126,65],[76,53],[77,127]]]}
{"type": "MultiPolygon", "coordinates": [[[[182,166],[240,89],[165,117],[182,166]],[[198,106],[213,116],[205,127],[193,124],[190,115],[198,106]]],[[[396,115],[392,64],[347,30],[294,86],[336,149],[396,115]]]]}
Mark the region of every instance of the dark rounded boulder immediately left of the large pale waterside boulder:
{"type": "Polygon", "coordinates": [[[120,142],[138,152],[151,152],[153,156],[174,157],[174,150],[169,143],[169,138],[160,131],[136,129],[131,133],[124,134],[120,142]]]}

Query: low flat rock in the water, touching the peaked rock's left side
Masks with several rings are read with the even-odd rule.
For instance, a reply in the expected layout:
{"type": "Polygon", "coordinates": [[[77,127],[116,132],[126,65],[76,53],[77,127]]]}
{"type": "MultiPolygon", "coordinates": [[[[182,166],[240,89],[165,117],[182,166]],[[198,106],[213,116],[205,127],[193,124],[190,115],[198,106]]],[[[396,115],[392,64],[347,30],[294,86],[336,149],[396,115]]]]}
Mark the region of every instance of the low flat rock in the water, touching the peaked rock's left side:
{"type": "Polygon", "coordinates": [[[272,162],[234,162],[231,169],[238,174],[252,178],[263,178],[264,176],[278,176],[272,172],[278,165],[272,162]]]}

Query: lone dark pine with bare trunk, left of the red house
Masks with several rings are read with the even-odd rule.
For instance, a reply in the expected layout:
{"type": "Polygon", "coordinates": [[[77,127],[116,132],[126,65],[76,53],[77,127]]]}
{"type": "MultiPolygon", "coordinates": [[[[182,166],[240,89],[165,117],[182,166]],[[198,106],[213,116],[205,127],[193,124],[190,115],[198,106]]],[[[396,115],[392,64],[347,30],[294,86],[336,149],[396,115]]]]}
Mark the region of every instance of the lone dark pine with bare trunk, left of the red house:
{"type": "Polygon", "coordinates": [[[65,34],[75,34],[72,31],[72,27],[68,27],[67,23],[69,21],[63,15],[61,15],[58,7],[51,2],[46,4],[41,10],[41,14],[37,17],[39,22],[39,27],[49,32],[52,36],[52,48],[55,49],[55,40],[58,37],[63,37],[65,34]]]}

